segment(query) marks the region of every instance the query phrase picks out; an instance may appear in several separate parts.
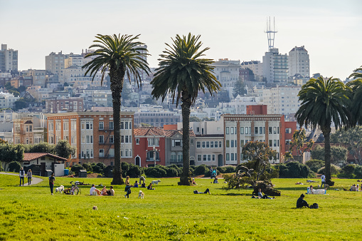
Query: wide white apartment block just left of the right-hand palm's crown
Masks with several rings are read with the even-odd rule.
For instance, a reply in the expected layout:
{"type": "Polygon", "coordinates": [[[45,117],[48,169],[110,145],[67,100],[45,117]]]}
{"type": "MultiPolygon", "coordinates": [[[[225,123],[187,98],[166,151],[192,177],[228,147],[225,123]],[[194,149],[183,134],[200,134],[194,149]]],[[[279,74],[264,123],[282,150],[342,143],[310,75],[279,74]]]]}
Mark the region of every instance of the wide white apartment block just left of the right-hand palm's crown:
{"type": "Polygon", "coordinates": [[[298,101],[300,86],[277,86],[262,89],[263,105],[267,105],[267,113],[289,115],[297,112],[301,101],[298,101]]]}

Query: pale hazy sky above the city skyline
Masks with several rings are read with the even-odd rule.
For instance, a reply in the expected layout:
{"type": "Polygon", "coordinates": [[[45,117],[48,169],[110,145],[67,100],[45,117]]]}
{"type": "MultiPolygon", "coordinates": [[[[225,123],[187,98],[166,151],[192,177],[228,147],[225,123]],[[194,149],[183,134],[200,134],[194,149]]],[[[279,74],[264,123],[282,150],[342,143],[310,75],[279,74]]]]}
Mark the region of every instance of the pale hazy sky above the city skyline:
{"type": "Polygon", "coordinates": [[[304,46],[312,73],[344,80],[362,66],[361,0],[0,0],[0,43],[18,50],[18,69],[45,69],[51,52],[81,53],[97,34],[141,34],[157,67],[176,34],[201,35],[207,58],[262,61],[267,17],[275,48],[304,46]]]}

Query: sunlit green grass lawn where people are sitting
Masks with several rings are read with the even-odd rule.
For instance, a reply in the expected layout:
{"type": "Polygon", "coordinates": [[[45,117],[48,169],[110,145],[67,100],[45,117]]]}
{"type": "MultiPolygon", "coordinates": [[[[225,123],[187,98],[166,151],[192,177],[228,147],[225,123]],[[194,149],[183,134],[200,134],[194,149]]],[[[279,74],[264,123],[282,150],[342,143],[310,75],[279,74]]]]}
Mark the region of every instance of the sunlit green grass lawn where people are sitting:
{"type": "MultiPolygon", "coordinates": [[[[255,200],[251,190],[223,190],[225,184],[196,179],[198,186],[178,186],[164,178],[156,190],[115,186],[115,197],[50,195],[47,178],[18,187],[18,177],[0,175],[0,240],[361,240],[362,192],[336,191],[356,180],[334,179],[329,195],[306,195],[319,209],[294,208],[307,185],[301,179],[273,180],[282,196],[255,200]],[[211,195],[193,190],[210,188],[211,195]],[[145,197],[138,198],[139,190],[145,197]],[[93,206],[98,210],[92,210],[93,206]]],[[[110,178],[56,178],[110,186],[110,178]]],[[[134,183],[135,179],[131,180],[134,183]]],[[[147,181],[156,180],[147,178],[147,181]]],[[[318,180],[318,179],[316,179],[318,180]]],[[[320,181],[320,180],[318,180],[320,181]]],[[[149,183],[147,183],[149,184],[149,183]]],[[[314,183],[313,185],[317,185],[314,183]]],[[[320,182],[319,182],[320,184],[320,182]]],[[[357,184],[357,183],[356,183],[357,184]]]]}

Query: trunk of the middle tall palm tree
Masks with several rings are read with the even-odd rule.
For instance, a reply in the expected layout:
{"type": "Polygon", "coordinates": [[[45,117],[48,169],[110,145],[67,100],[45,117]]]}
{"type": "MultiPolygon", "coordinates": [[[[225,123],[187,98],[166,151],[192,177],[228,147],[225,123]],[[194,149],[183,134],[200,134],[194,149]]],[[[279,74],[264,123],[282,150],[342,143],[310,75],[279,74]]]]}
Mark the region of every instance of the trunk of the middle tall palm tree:
{"type": "Polygon", "coordinates": [[[190,177],[190,107],[191,98],[187,91],[182,91],[182,174],[179,185],[191,185],[190,177]]]}

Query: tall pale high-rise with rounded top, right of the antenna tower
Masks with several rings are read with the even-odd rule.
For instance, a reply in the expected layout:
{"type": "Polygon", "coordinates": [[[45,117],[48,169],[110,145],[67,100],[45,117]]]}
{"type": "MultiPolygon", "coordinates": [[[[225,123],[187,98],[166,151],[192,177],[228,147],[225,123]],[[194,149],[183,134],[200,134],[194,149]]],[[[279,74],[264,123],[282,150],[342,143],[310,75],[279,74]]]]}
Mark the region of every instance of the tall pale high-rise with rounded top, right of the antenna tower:
{"type": "Polygon", "coordinates": [[[304,46],[295,46],[291,51],[289,51],[288,65],[288,76],[294,76],[299,73],[301,76],[309,78],[309,54],[304,46]]]}

